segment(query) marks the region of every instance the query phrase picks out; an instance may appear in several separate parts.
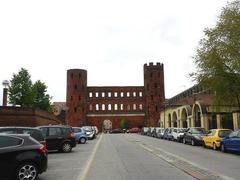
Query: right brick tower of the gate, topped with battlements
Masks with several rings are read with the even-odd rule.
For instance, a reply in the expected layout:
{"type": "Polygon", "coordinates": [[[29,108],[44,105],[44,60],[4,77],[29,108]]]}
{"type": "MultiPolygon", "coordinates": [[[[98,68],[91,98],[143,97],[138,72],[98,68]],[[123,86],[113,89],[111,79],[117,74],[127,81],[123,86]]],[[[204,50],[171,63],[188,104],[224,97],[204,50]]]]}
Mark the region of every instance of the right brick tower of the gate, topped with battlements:
{"type": "Polygon", "coordinates": [[[163,64],[144,64],[145,125],[158,125],[160,111],[165,100],[163,64]]]}

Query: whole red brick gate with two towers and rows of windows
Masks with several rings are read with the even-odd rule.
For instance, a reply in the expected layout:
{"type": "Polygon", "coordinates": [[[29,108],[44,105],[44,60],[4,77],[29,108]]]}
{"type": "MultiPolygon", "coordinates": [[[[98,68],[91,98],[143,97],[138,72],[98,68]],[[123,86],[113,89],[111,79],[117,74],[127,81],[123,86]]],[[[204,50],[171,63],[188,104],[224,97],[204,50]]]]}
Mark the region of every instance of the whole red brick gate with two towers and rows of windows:
{"type": "Polygon", "coordinates": [[[164,67],[144,64],[143,86],[87,86],[87,71],[67,71],[67,124],[115,129],[125,120],[131,127],[157,126],[165,100],[164,67]]]}

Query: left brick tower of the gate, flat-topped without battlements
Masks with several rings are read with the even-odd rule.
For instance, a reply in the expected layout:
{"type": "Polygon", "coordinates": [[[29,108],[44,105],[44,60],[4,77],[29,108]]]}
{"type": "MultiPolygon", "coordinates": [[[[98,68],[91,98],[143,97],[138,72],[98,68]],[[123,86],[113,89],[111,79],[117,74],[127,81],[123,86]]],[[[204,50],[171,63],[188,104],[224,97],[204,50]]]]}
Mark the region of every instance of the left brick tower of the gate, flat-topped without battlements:
{"type": "Polygon", "coordinates": [[[69,69],[67,71],[67,124],[82,126],[86,124],[87,114],[87,71],[69,69]]]}

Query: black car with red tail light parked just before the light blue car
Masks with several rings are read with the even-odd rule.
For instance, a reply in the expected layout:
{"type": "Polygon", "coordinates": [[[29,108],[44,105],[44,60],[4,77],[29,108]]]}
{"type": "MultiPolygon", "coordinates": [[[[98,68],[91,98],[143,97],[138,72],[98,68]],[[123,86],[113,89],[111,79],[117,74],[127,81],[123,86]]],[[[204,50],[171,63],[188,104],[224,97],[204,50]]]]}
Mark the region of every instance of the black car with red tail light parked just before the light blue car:
{"type": "Polygon", "coordinates": [[[70,126],[39,126],[47,142],[47,150],[71,152],[76,146],[75,135],[70,126]]]}

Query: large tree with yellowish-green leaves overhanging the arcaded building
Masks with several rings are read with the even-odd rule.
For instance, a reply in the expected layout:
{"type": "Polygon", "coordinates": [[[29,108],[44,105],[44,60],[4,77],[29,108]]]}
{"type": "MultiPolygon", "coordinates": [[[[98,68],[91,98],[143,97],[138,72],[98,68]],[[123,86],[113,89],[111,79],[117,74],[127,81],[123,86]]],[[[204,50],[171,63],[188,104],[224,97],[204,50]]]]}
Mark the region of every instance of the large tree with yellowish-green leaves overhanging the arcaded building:
{"type": "Polygon", "coordinates": [[[205,29],[204,34],[192,77],[214,92],[215,103],[240,108],[240,1],[228,3],[216,26],[205,29]]]}

